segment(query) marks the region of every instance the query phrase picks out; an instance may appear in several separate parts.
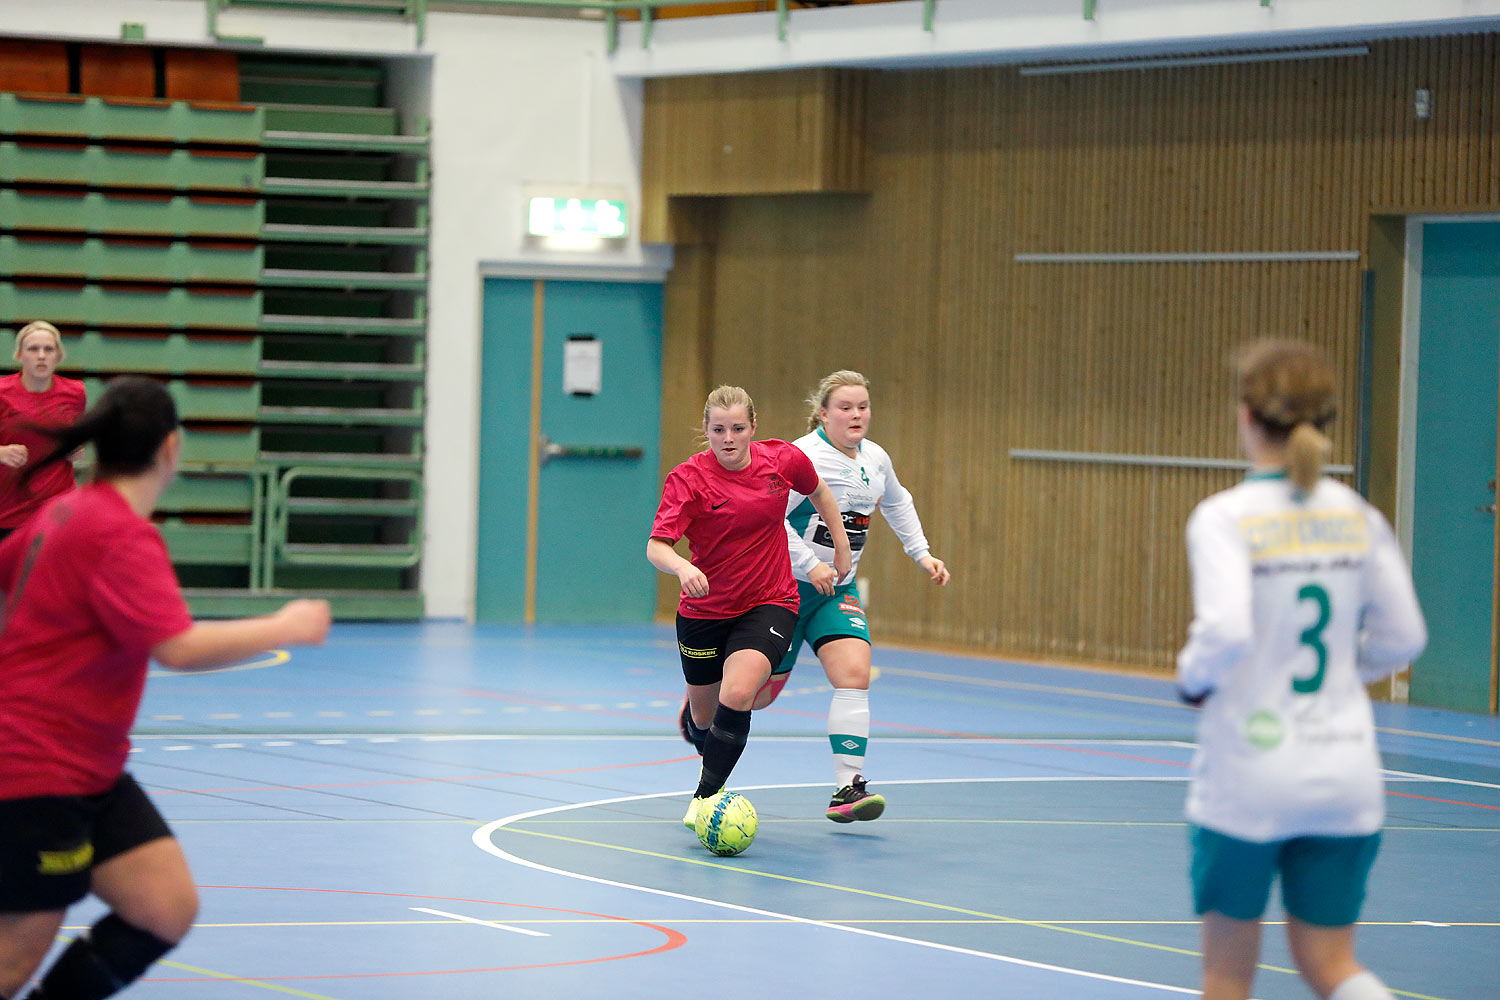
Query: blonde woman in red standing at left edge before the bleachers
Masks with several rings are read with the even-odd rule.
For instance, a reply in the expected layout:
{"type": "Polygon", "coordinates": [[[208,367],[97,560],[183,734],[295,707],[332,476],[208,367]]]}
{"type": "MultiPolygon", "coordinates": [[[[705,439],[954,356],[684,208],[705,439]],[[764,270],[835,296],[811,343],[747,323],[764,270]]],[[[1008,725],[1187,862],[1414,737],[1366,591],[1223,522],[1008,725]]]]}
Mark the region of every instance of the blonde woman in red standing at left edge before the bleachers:
{"type": "Polygon", "coordinates": [[[84,384],[57,375],[64,357],[63,337],[50,322],[28,322],[15,334],[21,370],[0,378],[0,538],[48,499],[74,489],[70,462],[54,462],[21,486],[27,462],[50,445],[34,427],[60,427],[84,415],[84,384]]]}

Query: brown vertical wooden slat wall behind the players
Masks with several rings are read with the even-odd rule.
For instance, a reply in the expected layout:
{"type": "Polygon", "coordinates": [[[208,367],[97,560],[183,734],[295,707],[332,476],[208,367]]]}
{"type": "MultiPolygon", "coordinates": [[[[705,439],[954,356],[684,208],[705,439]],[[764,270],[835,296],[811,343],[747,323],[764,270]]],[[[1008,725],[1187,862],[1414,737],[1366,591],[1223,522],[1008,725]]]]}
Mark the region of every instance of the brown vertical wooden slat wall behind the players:
{"type": "MultiPolygon", "coordinates": [[[[1494,211],[1497,63],[1496,36],[1407,39],[1360,58],[1130,73],[879,72],[858,102],[784,103],[832,136],[818,183],[840,183],[832,163],[860,159],[840,151],[854,142],[870,193],[716,201],[704,244],[680,249],[669,279],[664,462],[692,450],[682,426],[712,384],[746,385],[762,436],[795,438],[816,379],[860,369],[872,436],[954,571],[938,591],[876,529],[861,570],[878,642],[1170,669],[1190,616],[1184,522],[1239,475],[1010,450],[1238,457],[1232,361],[1250,340],[1294,336],[1338,366],[1334,460],[1353,462],[1366,261],[1014,255],[1368,253],[1372,216],[1494,211]],[[1418,87],[1432,90],[1428,121],[1413,114],[1418,87]],[[858,127],[818,117],[855,105],[858,127]]],[[[794,148],[784,121],[748,109],[768,93],[790,100],[766,76],[652,82],[646,202],[682,193],[682,171],[717,169],[692,150],[670,162],[664,135],[717,139],[741,115],[736,141],[764,126],[768,151],[794,148]]],[[[783,183],[764,169],[735,183],[783,183]]],[[[1389,223],[1378,231],[1388,267],[1389,223]]]]}

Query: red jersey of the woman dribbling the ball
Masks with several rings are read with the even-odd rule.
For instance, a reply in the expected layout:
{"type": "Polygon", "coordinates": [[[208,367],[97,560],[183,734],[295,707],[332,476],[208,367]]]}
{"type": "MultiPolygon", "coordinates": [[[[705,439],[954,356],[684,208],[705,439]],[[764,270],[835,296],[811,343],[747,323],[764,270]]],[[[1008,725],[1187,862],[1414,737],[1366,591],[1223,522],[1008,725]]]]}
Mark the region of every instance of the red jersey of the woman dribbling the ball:
{"type": "Polygon", "coordinates": [[[687,535],[688,559],[708,577],[706,597],[682,595],[684,618],[736,618],[758,604],[796,610],[796,579],[786,547],[786,492],[818,489],[818,469],[784,441],[752,441],[750,465],[735,472],[712,451],[672,469],[662,487],[652,538],[687,535]]]}

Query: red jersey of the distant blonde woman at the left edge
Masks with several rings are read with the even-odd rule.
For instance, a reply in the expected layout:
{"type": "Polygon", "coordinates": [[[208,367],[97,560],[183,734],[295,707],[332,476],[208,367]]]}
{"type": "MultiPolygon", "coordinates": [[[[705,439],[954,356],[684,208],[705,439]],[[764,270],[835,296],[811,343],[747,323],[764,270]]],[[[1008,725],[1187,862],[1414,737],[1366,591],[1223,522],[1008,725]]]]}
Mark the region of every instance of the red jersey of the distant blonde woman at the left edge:
{"type": "MultiPolygon", "coordinates": [[[[24,444],[30,465],[51,451],[54,442],[22,424],[62,427],[82,417],[84,405],[84,384],[75,378],[54,375],[51,388],[33,393],[21,382],[20,372],[6,375],[0,378],[0,444],[24,444]]],[[[0,465],[0,528],[18,528],[48,498],[74,489],[70,462],[54,462],[22,487],[24,469],[0,465]]]]}

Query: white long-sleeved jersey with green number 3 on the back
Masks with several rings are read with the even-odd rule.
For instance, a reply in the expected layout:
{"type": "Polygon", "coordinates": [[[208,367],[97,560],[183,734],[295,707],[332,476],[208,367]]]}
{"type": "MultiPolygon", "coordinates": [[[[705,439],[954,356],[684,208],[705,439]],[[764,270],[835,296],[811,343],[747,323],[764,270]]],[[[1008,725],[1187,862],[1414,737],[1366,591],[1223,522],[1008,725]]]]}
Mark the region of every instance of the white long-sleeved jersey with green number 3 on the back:
{"type": "Polygon", "coordinates": [[[1341,483],[1299,495],[1286,474],[1262,472],[1198,504],[1188,561],[1194,618],[1178,684],[1212,691],[1188,820],[1256,843],[1378,831],[1364,685],[1426,645],[1390,525],[1341,483]]]}

